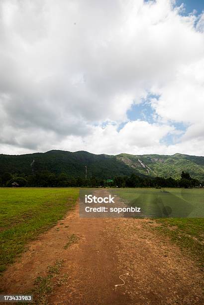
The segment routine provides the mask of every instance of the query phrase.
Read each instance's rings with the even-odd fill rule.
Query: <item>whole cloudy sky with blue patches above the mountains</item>
[[[0,153],[204,155],[203,0],[1,0]]]

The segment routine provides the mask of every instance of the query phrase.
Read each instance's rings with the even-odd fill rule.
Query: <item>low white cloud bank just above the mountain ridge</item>
[[[44,132],[40,130],[30,130],[29,138],[27,132],[21,130],[17,135],[7,133],[10,141],[16,139],[15,146],[17,149],[12,150],[13,153],[18,152],[20,147],[29,147],[34,151],[40,149],[45,151],[49,145],[50,149],[58,149],[70,151],[86,150],[95,153],[117,154],[121,151],[137,154],[140,152],[148,152],[150,149],[160,150],[159,141],[169,133],[174,133],[174,128],[168,125],[149,124],[145,121],[132,121],[124,125],[118,131],[118,125],[107,124],[105,127],[90,127],[90,134],[86,136],[67,136],[66,138],[57,138],[53,132]],[[10,137],[10,138],[9,138]],[[5,139],[4,139],[5,140]],[[5,144],[9,142],[3,141]],[[40,143],[40,145],[39,145]],[[8,148],[8,147],[7,147]],[[30,152],[27,150],[26,152]]]

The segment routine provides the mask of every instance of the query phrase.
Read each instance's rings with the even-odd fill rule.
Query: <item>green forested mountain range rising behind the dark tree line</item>
[[[34,160],[34,162],[33,162]],[[32,165],[31,165],[31,162]],[[204,156],[176,153],[174,155],[143,154],[118,155],[94,154],[90,152],[49,151],[21,155],[0,154],[0,175],[4,172],[29,175],[40,170],[71,177],[113,178],[116,175],[163,176],[179,178],[182,170],[194,178],[204,180]]]

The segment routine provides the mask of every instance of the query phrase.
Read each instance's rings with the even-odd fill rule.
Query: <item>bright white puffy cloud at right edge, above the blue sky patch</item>
[[[158,101],[152,101],[163,119],[195,124],[204,114],[204,58],[182,66],[175,79],[162,86]]]

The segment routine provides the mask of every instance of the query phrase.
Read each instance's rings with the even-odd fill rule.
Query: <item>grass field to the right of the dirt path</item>
[[[111,192],[128,205],[146,206],[146,213],[159,224],[152,229],[204,264],[204,189],[120,188]],[[171,208],[169,215],[162,210],[165,206]]]

